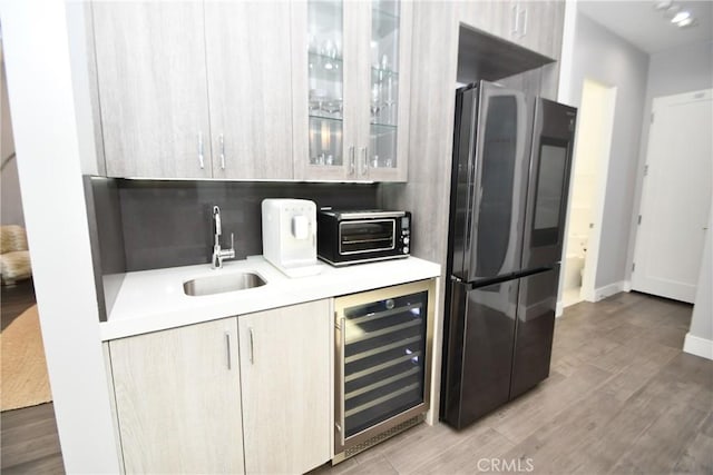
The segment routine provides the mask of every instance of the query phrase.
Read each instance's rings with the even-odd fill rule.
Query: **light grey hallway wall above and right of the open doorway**
[[[634,184],[643,122],[648,56],[589,18],[577,13],[569,68],[563,68],[559,100],[582,103],[585,78],[617,88],[596,288],[623,286],[634,212]]]

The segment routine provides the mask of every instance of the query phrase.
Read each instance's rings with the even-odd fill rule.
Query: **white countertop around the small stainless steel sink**
[[[201,264],[128,273],[114,307],[107,309],[107,321],[99,324],[101,339],[123,338],[440,276],[438,264],[416,257],[341,268],[321,265],[321,274],[299,278],[285,276],[262,256],[226,260],[223,269],[216,270],[211,269],[209,264]],[[258,274],[267,284],[199,297],[188,296],[183,290],[187,280],[246,271]]]

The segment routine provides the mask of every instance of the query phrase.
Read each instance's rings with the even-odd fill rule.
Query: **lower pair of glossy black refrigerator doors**
[[[559,266],[485,287],[453,281],[441,416],[462,428],[549,375]]]

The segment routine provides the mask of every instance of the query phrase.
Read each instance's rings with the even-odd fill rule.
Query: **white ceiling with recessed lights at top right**
[[[657,1],[578,1],[582,13],[648,53],[713,40],[713,1],[675,1],[696,18],[678,28],[654,6]]]

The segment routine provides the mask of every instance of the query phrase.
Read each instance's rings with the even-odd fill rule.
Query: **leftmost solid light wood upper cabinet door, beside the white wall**
[[[91,9],[107,175],[211,177],[203,3]]]

